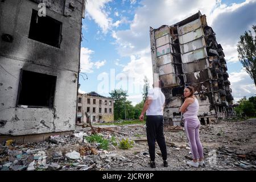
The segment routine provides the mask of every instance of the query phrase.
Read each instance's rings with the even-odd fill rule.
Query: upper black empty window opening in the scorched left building
[[[32,10],[29,39],[60,48],[62,23],[50,16],[38,16]]]

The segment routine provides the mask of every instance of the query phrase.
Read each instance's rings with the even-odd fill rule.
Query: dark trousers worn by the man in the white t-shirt
[[[163,160],[167,159],[166,142],[163,134],[163,122],[163,115],[147,115],[147,144],[151,161],[155,161],[155,140],[158,142]]]

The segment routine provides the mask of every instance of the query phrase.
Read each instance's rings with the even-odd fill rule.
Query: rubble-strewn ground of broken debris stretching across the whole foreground
[[[156,144],[154,170],[255,170],[256,119],[243,122],[221,122],[202,125],[200,139],[204,148],[205,168],[193,168],[186,162],[192,159],[185,131],[182,127],[164,127],[169,167],[163,167],[162,156]],[[105,139],[113,136],[118,143],[123,138],[133,140],[132,148],[122,150],[109,143],[108,150],[100,143],[89,143],[90,128],[77,130],[47,141],[16,144],[7,140],[0,144],[1,171],[86,171],[86,170],[152,170],[148,166],[146,129],[144,125],[119,126],[119,130],[101,130]]]

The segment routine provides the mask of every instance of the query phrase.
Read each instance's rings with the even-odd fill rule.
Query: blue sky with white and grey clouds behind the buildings
[[[256,24],[256,1],[88,0],[82,20],[80,92],[104,96],[114,88],[128,89],[129,100],[142,100],[143,78],[152,84],[149,27],[174,24],[197,13],[224,48],[229,80],[236,100],[256,93],[253,80],[237,59],[239,36]],[[121,80],[122,79],[122,80]]]

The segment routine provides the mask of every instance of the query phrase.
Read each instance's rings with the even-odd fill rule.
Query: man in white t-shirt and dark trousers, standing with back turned
[[[146,112],[146,131],[147,131],[147,143],[148,152],[150,153],[150,166],[155,168],[155,140],[158,142],[158,146],[162,153],[163,165],[168,166],[167,163],[167,150],[166,142],[163,134],[163,110],[166,97],[163,92],[163,82],[158,80],[154,83],[154,88],[148,91],[147,100],[144,103],[143,110],[139,119],[143,121],[144,114]]]

